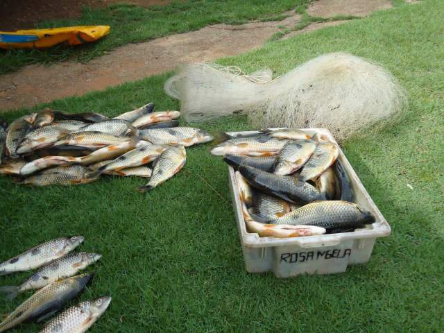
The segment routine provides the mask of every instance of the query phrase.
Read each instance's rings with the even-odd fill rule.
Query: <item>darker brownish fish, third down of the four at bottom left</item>
[[[5,332],[20,323],[44,321],[60,310],[66,302],[76,298],[92,278],[92,274],[76,275],[53,282],[36,291],[0,323],[0,332]]]

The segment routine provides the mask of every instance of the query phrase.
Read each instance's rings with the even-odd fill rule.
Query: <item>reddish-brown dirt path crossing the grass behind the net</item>
[[[332,5],[335,15],[344,13],[365,16],[373,10],[388,8],[390,2],[320,0],[316,1],[309,11],[312,12],[311,15],[327,17],[330,12],[325,10],[325,3],[336,3]],[[356,12],[350,8],[357,8]],[[59,62],[49,67],[24,67],[21,71],[1,76],[0,111],[102,90],[169,71],[182,62],[210,61],[255,49],[262,46],[274,33],[281,31],[280,27],[294,26],[300,17],[294,15],[293,11],[289,12],[290,14],[291,17],[280,22],[254,22],[239,26],[216,24],[199,31],[129,44],[85,65],[78,62]],[[340,23],[342,22],[311,24],[296,33]]]

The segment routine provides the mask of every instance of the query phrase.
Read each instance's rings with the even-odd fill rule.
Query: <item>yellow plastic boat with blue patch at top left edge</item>
[[[110,26],[66,26],[64,28],[0,31],[2,49],[44,49],[62,42],[69,45],[95,42],[108,35]]]

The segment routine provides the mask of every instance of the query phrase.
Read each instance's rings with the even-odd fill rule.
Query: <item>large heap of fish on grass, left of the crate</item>
[[[153,110],[149,103],[109,119],[46,108],[9,126],[0,121],[0,173],[37,186],[139,176],[149,181],[138,190],[152,189],[182,169],[185,147],[213,139],[199,128],[178,127],[178,111]]]

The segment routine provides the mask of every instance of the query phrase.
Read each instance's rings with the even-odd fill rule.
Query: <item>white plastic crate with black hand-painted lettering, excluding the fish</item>
[[[304,129],[310,134],[319,133],[324,139],[335,142],[331,133],[325,128]],[[228,133],[236,135],[249,132]],[[289,278],[299,274],[333,274],[342,273],[348,265],[368,262],[373,246],[378,237],[387,237],[391,228],[384,216],[377,209],[366,189],[357,177],[352,166],[339,148],[339,160],[350,177],[355,191],[355,203],[365,207],[375,216],[375,223],[367,228],[340,234],[323,234],[321,236],[273,238],[259,237],[246,229],[242,214],[241,200],[237,187],[234,169],[230,171],[230,189],[237,219],[239,237],[246,270],[250,273],[273,271],[278,278]]]

